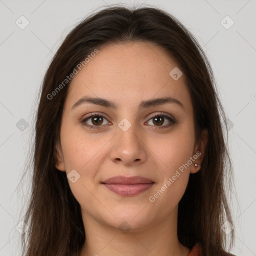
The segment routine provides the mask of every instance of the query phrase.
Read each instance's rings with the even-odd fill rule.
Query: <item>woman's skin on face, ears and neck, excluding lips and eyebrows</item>
[[[74,183],[68,179],[81,205],[86,234],[80,256],[189,253],[177,238],[177,206],[189,173],[200,169],[194,162],[200,164],[203,159],[207,132],[203,130],[202,137],[195,140],[185,75],[174,80],[169,75],[174,67],[178,67],[175,61],[153,43],[113,44],[101,47],[70,82],[55,166],[67,174],[75,169],[80,175]],[[71,109],[82,96],[102,97],[118,107],[83,103]],[[138,108],[142,100],[165,96],[179,100],[184,109],[174,103]],[[95,112],[104,117],[101,126],[85,126],[82,120]],[[153,122],[154,114],[174,117],[176,123],[164,118],[159,128]],[[118,126],[123,118],[131,124],[126,131]],[[91,118],[86,123],[97,125]],[[149,196],[196,151],[201,155],[150,202]],[[155,183],[137,195],[122,196],[100,183],[116,175],[140,175]],[[118,228],[123,221],[130,228],[127,232]]]

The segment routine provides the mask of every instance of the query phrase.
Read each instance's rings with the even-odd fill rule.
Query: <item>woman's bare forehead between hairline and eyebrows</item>
[[[173,68],[179,67],[170,54],[151,42],[105,45],[71,80],[66,104],[85,95],[108,98],[121,105],[123,100],[135,103],[167,94],[189,104],[185,76],[174,80],[169,74]]]

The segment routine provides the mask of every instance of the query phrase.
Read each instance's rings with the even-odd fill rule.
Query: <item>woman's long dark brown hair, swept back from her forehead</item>
[[[225,191],[232,181],[227,122],[205,53],[180,21],[164,10],[113,5],[90,13],[68,33],[44,76],[36,114],[31,196],[23,218],[29,229],[22,235],[22,255],[79,255],[85,240],[80,205],[66,173],[55,168],[54,160],[69,82],[53,98],[49,94],[95,48],[128,41],[155,43],[170,53],[186,77],[196,137],[202,129],[208,130],[201,168],[190,174],[178,204],[179,241],[189,248],[200,243],[207,256],[225,255],[227,245],[230,250],[233,244],[233,231],[226,235],[221,230],[225,221],[232,225]]]

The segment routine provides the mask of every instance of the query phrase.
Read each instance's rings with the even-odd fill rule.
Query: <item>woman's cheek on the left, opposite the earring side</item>
[[[64,156],[67,180],[73,196],[80,205],[95,203],[94,177],[106,157],[104,146],[109,138],[85,135],[81,128],[63,126],[61,147]],[[74,179],[69,178],[72,170]],[[71,173],[71,172],[70,172]],[[75,180],[75,182],[72,182]]]

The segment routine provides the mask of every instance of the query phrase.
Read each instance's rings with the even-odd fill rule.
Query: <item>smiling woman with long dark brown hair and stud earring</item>
[[[177,19],[91,14],[43,80],[23,255],[230,255],[221,118],[207,58]]]

